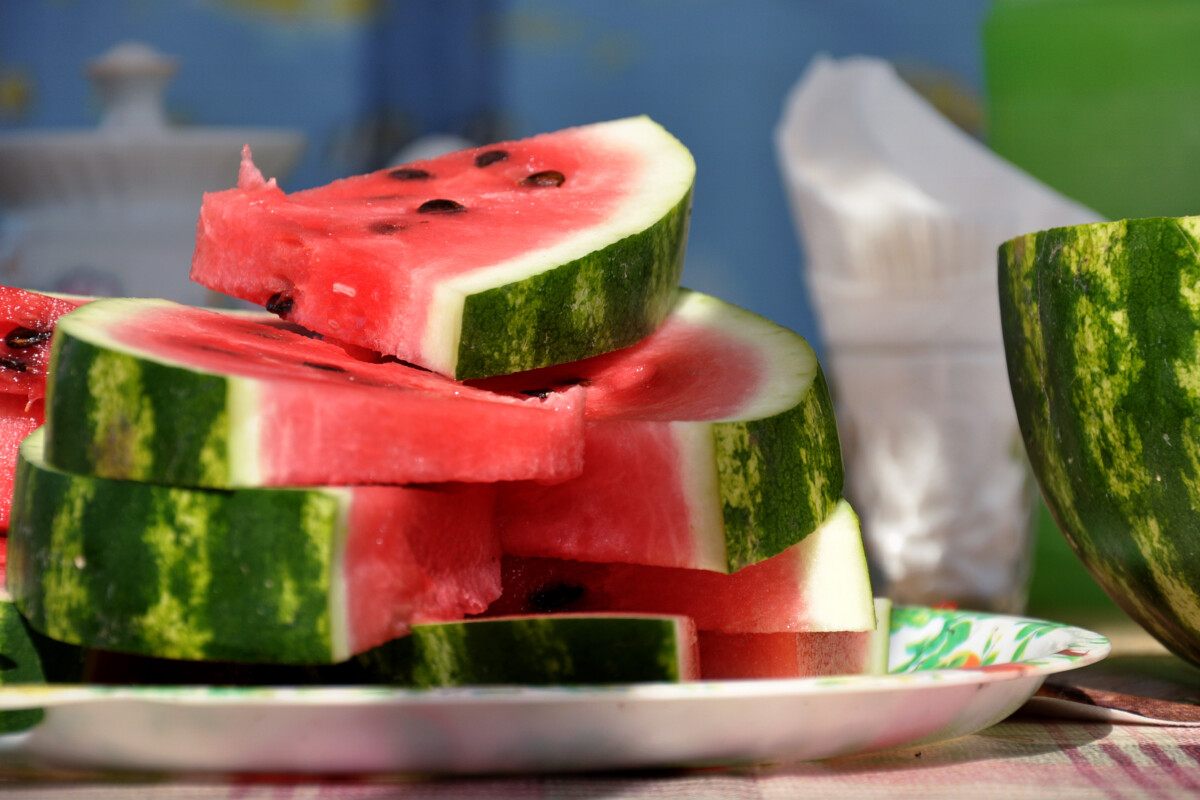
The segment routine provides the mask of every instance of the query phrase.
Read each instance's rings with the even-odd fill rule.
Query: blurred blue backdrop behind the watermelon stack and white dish
[[[474,142],[649,114],[698,166],[685,283],[820,337],[772,131],[817,54],[875,55],[980,125],[986,0],[4,0],[0,132],[94,125],[82,73],[124,40],[180,59],[168,112],[298,127],[284,180],[378,167],[425,133]]]

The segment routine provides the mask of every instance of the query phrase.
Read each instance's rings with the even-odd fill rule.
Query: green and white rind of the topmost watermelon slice
[[[583,126],[642,172],[602,223],[433,289],[421,366],[458,380],[566,363],[634,344],[683,273],[696,162],[648,116]],[[553,137],[554,134],[545,134]]]

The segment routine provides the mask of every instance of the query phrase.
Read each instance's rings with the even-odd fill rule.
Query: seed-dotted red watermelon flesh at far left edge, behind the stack
[[[30,402],[46,397],[50,335],[59,317],[88,302],[85,297],[46,295],[0,285],[0,392]]]

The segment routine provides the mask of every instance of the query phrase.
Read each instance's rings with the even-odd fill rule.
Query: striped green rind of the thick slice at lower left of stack
[[[8,533],[8,589],[35,630],[175,658],[349,657],[332,577],[347,491],[205,492],[70,475],[46,465],[43,431],[22,445]]]

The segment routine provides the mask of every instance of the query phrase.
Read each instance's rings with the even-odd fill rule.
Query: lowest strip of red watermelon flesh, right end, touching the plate
[[[872,631],[701,631],[700,676],[733,680],[860,675],[870,666],[872,634]]]

